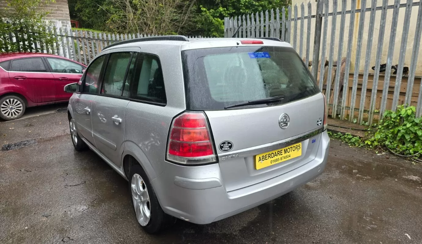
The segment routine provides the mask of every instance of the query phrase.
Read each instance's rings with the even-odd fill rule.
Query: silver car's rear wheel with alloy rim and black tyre
[[[162,211],[154,189],[139,164],[130,169],[129,190],[136,219],[146,232],[156,234],[174,223],[174,218]]]

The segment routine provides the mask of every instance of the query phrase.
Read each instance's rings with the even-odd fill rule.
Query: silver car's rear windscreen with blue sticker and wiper
[[[219,110],[235,103],[283,95],[275,106],[319,92],[292,48],[242,46],[182,51],[187,109]]]

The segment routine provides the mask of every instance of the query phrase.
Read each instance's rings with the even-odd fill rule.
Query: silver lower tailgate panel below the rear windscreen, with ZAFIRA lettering
[[[318,93],[280,106],[206,111],[206,114],[216,143],[223,182],[227,191],[233,191],[294,170],[315,158],[321,136],[318,132],[322,130],[319,121],[324,116],[324,98]],[[279,125],[281,114],[289,116],[289,125],[285,129]],[[265,156],[285,147],[291,150],[288,147],[297,143],[301,143],[300,152],[292,153],[292,158],[262,168],[255,165],[256,155]],[[282,153],[287,153],[286,150]],[[267,156],[267,160],[272,158],[280,157],[274,153]]]

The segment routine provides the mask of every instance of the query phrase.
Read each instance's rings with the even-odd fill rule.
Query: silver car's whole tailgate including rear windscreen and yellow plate
[[[303,136],[322,130],[324,96],[287,43],[229,42],[183,50],[182,61],[186,108],[206,113],[224,185],[233,191],[315,158],[320,135]]]

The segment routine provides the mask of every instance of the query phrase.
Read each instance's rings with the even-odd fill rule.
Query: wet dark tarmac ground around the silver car
[[[13,129],[11,129],[13,128]],[[422,166],[332,141],[317,179],[209,225],[178,220],[158,236],[135,220],[127,181],[76,152],[66,114],[0,122],[1,244],[422,244]]]

